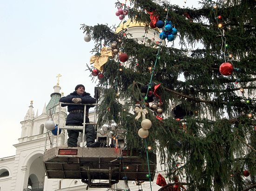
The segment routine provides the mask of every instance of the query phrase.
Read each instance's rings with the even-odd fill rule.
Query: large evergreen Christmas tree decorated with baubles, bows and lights
[[[126,129],[131,151],[151,146],[170,182],[181,177],[187,190],[255,188],[256,1],[115,6],[121,31],[81,26],[95,42],[88,69],[103,91],[98,122]],[[130,22],[145,26],[142,40],[130,38]],[[162,40],[147,38],[148,30]]]

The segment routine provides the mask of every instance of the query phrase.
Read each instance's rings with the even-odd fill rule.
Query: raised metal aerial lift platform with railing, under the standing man
[[[81,128],[84,134],[84,127],[61,128]],[[88,187],[109,188],[119,180],[152,181],[155,176],[155,153],[148,153],[147,161],[146,152],[131,154],[120,147],[58,146],[58,135],[56,146],[46,149],[43,156],[47,178],[81,179]]]

